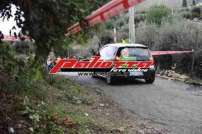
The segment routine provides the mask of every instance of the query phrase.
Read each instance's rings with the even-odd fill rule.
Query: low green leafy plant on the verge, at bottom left
[[[48,105],[41,101],[33,105],[28,97],[25,97],[22,114],[31,122],[29,130],[37,134],[63,134],[64,128],[53,120],[53,113]]]

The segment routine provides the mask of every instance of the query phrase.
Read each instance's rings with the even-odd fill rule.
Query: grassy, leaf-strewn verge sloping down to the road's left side
[[[128,118],[106,96],[63,77],[35,82],[14,96],[4,99],[12,98],[12,106],[4,102],[12,119],[3,128],[5,133],[11,126],[20,134],[111,134],[129,126]],[[101,107],[101,103],[106,105]],[[5,111],[0,108],[3,117],[1,112]],[[5,122],[6,118],[0,120],[0,124]]]

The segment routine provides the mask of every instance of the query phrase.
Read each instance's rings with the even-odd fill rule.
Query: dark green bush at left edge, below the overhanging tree
[[[9,43],[0,45],[0,86],[2,89],[15,92],[30,90],[34,82],[43,79],[40,69],[41,65],[35,62],[32,53],[16,52],[15,47]]]

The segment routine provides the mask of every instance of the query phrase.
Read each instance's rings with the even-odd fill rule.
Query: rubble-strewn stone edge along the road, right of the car
[[[172,77],[168,77],[168,76],[161,76],[160,74],[156,74],[156,76],[159,78],[167,79],[167,80],[175,80],[175,81],[184,82],[184,83],[190,84],[190,85],[202,86],[202,82],[199,82],[197,80],[191,80],[191,79],[184,80],[184,79],[172,78]]]

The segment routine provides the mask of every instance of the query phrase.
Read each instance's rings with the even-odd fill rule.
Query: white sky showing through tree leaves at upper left
[[[14,5],[12,5],[12,13],[14,14],[15,11],[16,11],[16,7],[15,7]],[[0,31],[2,31],[2,33],[3,33],[4,35],[9,35],[9,30],[10,30],[13,26],[16,27],[16,30],[13,30],[12,33],[13,33],[13,32],[18,33],[18,32],[20,31],[20,29],[17,28],[17,25],[16,25],[16,23],[15,23],[15,21],[14,21],[14,17],[11,17],[9,20],[5,19],[4,21],[3,21],[2,18],[0,18]]]

